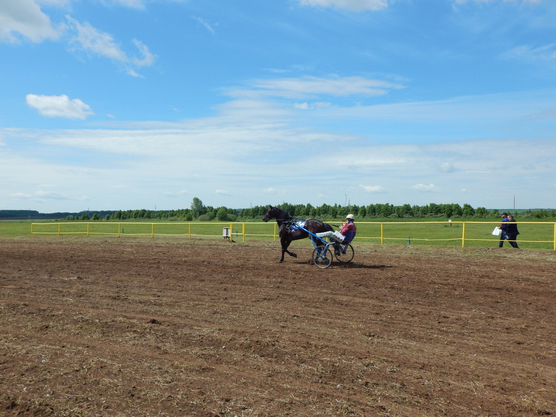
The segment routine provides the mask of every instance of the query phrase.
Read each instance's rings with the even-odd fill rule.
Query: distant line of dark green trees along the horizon
[[[411,219],[411,218],[438,218],[450,219],[459,217],[500,217],[499,210],[488,210],[484,207],[474,209],[469,204],[460,206],[459,204],[436,204],[430,203],[426,206],[404,204],[394,206],[392,204],[369,204],[366,206],[348,205],[341,206],[335,204],[330,206],[323,204],[314,207],[311,204],[290,204],[282,203],[277,205],[290,216],[299,219],[317,217],[321,219],[337,219],[352,213],[358,219],[390,218],[390,219]],[[268,210],[268,206],[255,206],[249,209],[230,209],[228,207],[212,207],[203,205],[197,197],[193,198],[190,209],[180,210],[88,210],[77,213],[56,212],[39,213],[36,210],[0,210],[0,219],[24,220],[24,219],[58,219],[68,221],[82,220],[131,220],[131,219],[159,219],[159,220],[183,220],[183,221],[236,221],[237,219],[260,219]],[[507,210],[508,212],[512,210]],[[535,210],[516,210],[517,217],[522,219],[543,219],[556,217],[556,210],[535,209]]]

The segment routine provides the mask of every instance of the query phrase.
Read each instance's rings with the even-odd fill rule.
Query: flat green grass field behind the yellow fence
[[[358,233],[356,243],[381,243],[381,225],[383,223],[384,244],[411,245],[440,245],[461,246],[463,225],[456,223],[463,219],[453,220],[452,226],[446,223],[448,219],[364,219],[357,221]],[[400,224],[400,220],[408,220]],[[467,221],[467,219],[465,219]],[[552,219],[546,219],[552,220]],[[331,224],[339,225],[342,220],[329,220]],[[473,219],[474,222],[486,224],[465,224],[465,246],[495,247],[498,237],[490,234],[499,221],[493,219]],[[210,222],[162,222],[162,221],[90,221],[88,222],[56,222],[56,221],[0,221],[0,236],[118,236],[121,237],[155,237],[173,236],[188,239],[217,239],[222,236],[222,227],[229,227],[229,223]],[[154,224],[154,227],[153,225]],[[88,226],[87,226],[88,225]],[[274,241],[276,222],[263,223],[256,220],[245,221],[245,239]],[[232,224],[232,238],[243,240],[243,221]],[[518,227],[519,246],[523,249],[554,249],[554,222],[532,221],[522,222]],[[277,227],[276,227],[277,232]],[[544,241],[544,242],[527,242]],[[299,242],[304,244],[304,242]],[[307,241],[308,243],[308,241]],[[505,246],[509,246],[508,243]]]

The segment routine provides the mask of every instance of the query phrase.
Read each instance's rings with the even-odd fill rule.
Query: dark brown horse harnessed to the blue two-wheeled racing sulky
[[[305,239],[309,237],[309,234],[305,230],[295,228],[294,217],[288,215],[284,210],[269,205],[269,211],[262,217],[262,221],[267,222],[271,219],[276,219],[276,223],[280,226],[278,235],[280,236],[280,244],[282,245],[282,257],[278,262],[284,262],[284,254],[286,252],[288,255],[296,258],[297,255],[287,250],[287,247],[290,246],[292,240]],[[304,227],[315,234],[334,230],[329,224],[317,219],[305,220]]]

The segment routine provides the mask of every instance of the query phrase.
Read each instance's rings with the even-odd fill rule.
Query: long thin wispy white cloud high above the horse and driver
[[[236,97],[285,97],[285,98],[304,98],[318,95],[330,95],[336,97],[347,96],[382,96],[390,90],[403,88],[399,84],[390,83],[382,80],[371,80],[369,78],[353,76],[329,78],[305,76],[299,78],[275,78],[274,80],[255,80],[251,83],[251,88],[235,88],[226,90],[231,96]],[[329,104],[319,102],[315,107],[326,107]],[[301,103],[302,107],[304,103]],[[309,108],[307,104],[306,108]]]

